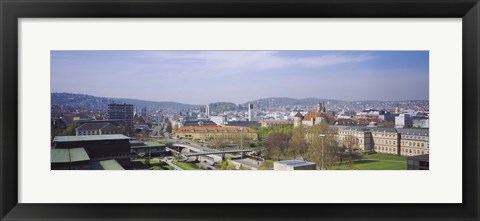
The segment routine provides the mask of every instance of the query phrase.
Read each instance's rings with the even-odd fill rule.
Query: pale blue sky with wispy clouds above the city
[[[188,104],[428,100],[428,51],[51,51],[51,91]]]

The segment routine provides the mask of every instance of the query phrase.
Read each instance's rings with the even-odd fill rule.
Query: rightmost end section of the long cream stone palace
[[[429,153],[429,130],[397,128],[401,134],[401,155],[416,156]]]

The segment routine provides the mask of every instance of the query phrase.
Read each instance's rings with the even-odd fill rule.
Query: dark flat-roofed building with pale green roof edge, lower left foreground
[[[91,160],[116,159],[122,164],[130,162],[129,137],[122,134],[56,136],[54,149],[83,147]]]

